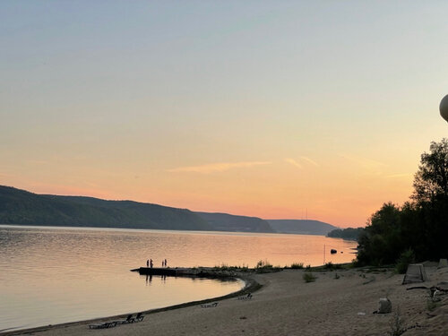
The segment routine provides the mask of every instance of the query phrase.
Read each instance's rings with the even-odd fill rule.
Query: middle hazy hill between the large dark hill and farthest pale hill
[[[195,212],[218,231],[275,232],[266,220],[228,213]]]

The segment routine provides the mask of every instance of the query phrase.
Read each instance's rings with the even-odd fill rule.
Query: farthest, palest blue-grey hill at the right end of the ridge
[[[337,227],[319,220],[267,220],[279,233],[295,233],[298,235],[326,236]]]

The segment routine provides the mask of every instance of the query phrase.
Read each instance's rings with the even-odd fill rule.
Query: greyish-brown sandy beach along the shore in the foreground
[[[401,285],[392,270],[314,271],[306,283],[303,270],[254,275],[263,285],[250,300],[237,297],[215,307],[200,304],[155,314],[141,323],[90,330],[90,322],[56,325],[31,334],[50,335],[387,335],[400,310],[404,335],[448,335],[448,295],[428,309],[428,289],[448,280],[448,268],[426,267],[429,280]],[[339,276],[336,276],[336,273]],[[373,314],[380,297],[392,301],[391,314]],[[106,319],[105,321],[111,321]],[[24,334],[24,332],[22,332]]]

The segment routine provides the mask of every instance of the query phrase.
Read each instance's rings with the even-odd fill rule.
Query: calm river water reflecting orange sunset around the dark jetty
[[[154,266],[346,263],[356,243],[321,236],[0,226],[0,332],[218,297],[239,280],[193,280],[129,271]],[[330,254],[331,248],[338,254]],[[343,252],[343,253],[340,253]]]

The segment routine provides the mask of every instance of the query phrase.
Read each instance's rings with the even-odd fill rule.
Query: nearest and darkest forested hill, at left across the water
[[[0,185],[0,223],[22,225],[212,230],[193,211],[132,201],[32,194]]]

